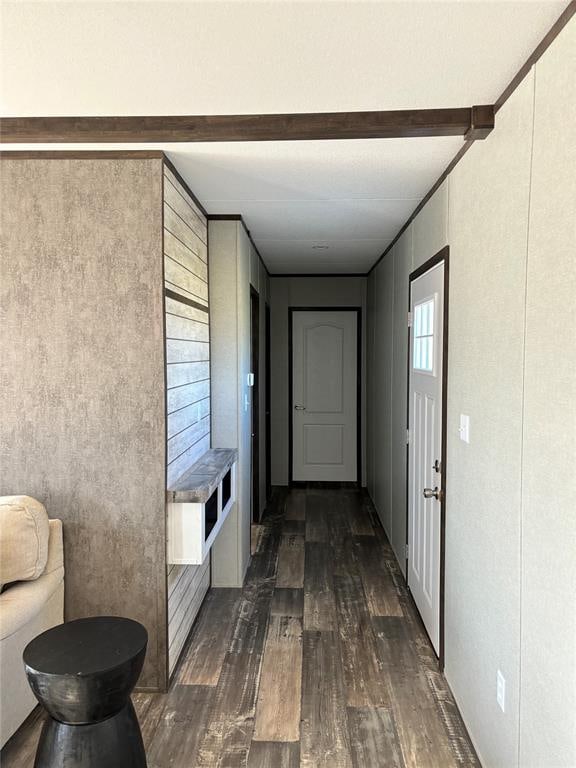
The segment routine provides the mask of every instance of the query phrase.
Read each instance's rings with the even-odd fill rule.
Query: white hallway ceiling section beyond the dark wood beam
[[[242,213],[271,272],[364,272],[461,143],[251,142],[169,155],[210,213]]]

